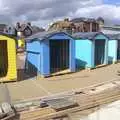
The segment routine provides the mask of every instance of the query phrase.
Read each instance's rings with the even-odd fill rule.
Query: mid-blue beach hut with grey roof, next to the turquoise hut
[[[40,32],[26,39],[27,71],[43,77],[75,72],[75,41],[65,32]]]

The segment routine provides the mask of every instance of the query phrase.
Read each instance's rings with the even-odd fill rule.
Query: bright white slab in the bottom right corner
[[[120,100],[99,108],[71,113],[70,120],[119,120]]]

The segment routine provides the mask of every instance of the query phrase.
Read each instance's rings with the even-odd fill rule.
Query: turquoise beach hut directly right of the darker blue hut
[[[108,37],[101,32],[75,33],[76,67],[95,68],[108,64]]]

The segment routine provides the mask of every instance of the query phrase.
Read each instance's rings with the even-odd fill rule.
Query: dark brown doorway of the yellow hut
[[[8,71],[7,41],[0,40],[0,77],[5,77]]]

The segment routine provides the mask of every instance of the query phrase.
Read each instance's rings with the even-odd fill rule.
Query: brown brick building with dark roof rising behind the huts
[[[72,20],[64,19],[53,23],[48,31],[66,31],[69,33],[76,32],[98,32],[104,25],[104,20],[99,17],[98,19],[92,18],[75,18]]]

